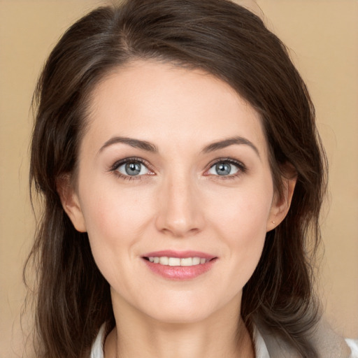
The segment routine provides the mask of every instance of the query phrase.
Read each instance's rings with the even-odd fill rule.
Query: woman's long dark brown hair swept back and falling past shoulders
[[[244,287],[241,315],[251,332],[253,322],[260,322],[302,357],[317,357],[310,342],[318,317],[310,254],[320,239],[325,159],[313,104],[285,45],[259,17],[227,0],[129,0],[97,8],[52,50],[36,87],[31,143],[31,186],[44,206],[29,257],[38,275],[37,357],[83,357],[101,324],[115,324],[109,285],[87,234],[76,231],[64,213],[56,182],[76,175],[95,85],[133,59],[203,69],[229,83],[261,115],[278,193],[282,169],[294,167],[291,208],[266,235]]]

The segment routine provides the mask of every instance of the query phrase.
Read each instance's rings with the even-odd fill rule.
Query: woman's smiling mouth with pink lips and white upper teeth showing
[[[166,250],[150,252],[142,259],[157,275],[169,280],[190,280],[209,271],[218,257],[197,251]]]

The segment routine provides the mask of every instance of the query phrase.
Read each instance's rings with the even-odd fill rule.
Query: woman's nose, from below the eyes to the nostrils
[[[197,184],[172,176],[159,189],[156,227],[164,234],[180,238],[200,232],[204,225],[203,207]]]

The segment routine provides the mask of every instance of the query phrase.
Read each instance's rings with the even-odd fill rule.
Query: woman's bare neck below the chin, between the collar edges
[[[205,320],[190,323],[159,322],[134,308],[115,309],[117,325],[106,339],[105,358],[253,358],[239,308],[234,299]]]

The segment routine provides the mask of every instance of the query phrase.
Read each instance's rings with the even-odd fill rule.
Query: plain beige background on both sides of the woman
[[[249,0],[250,1],[250,0]],[[22,263],[29,206],[31,94],[66,27],[103,1],[0,0],[0,357],[22,352]],[[317,109],[330,163],[320,290],[337,331],[358,338],[358,1],[258,0],[292,50]]]

